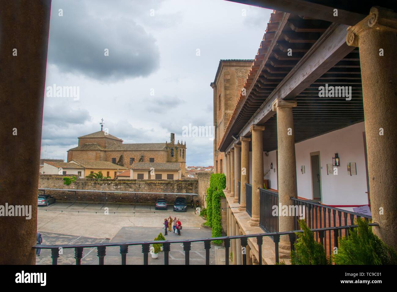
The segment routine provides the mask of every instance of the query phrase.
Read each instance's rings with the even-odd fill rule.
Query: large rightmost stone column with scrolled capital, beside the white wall
[[[397,250],[397,13],[372,7],[348,31],[347,44],[360,49],[373,231]]]

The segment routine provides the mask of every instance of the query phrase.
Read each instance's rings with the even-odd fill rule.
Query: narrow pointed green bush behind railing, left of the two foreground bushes
[[[324,246],[314,240],[314,232],[307,227],[304,220],[299,220],[303,232],[297,233],[295,250],[291,252],[293,265],[331,265],[332,260],[327,257]]]

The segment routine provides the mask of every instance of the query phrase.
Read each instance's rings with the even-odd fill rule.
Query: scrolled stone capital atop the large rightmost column
[[[379,6],[372,7],[367,17],[356,25],[347,28],[346,43],[349,46],[358,47],[360,34],[367,29],[394,31],[397,33],[397,13]]]

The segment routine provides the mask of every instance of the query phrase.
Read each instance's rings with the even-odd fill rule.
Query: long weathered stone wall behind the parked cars
[[[62,188],[65,191],[49,191],[58,201],[79,201],[79,202],[111,202],[126,204],[153,204],[157,198],[164,198],[162,194],[126,194],[126,193],[105,193],[106,191],[126,192],[160,192],[160,193],[194,193],[198,194],[198,181],[169,181],[169,180],[117,180],[107,179],[95,181],[94,179],[77,179],[69,186],[64,184],[63,177],[56,175],[40,175],[39,188]],[[99,190],[100,192],[73,192],[73,189]],[[69,190],[69,191],[67,191]],[[42,194],[40,191],[39,194]],[[180,195],[186,198],[190,204],[192,196]],[[177,195],[166,195],[168,204],[173,204]],[[196,198],[195,198],[196,200]]]

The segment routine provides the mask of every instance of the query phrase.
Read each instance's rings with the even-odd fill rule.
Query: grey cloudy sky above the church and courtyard
[[[254,58],[270,13],[224,0],[52,0],[41,158],[66,159],[103,118],[124,143],[172,132],[187,165],[214,165],[213,141],[183,126],[213,125],[219,60]],[[56,97],[54,84],[79,95]]]

